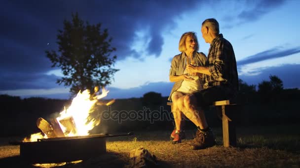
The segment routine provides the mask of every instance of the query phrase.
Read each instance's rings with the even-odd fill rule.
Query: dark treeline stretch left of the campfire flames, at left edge
[[[27,135],[39,132],[38,117],[47,118],[63,110],[68,100],[39,97],[21,99],[0,95],[0,136]]]

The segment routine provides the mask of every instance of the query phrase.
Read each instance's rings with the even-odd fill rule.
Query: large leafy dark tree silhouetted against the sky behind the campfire
[[[111,84],[116,56],[111,53],[112,38],[108,29],[101,31],[101,24],[90,25],[79,19],[78,13],[72,14],[72,21],[64,21],[64,29],[58,30],[58,53],[46,51],[52,67],[61,68],[64,77],[56,83],[71,86],[71,93],[89,89],[94,92],[95,86]]]

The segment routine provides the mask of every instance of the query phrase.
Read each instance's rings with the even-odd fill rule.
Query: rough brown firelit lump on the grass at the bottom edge
[[[155,155],[151,154],[144,147],[130,151],[130,168],[148,168],[157,166]]]

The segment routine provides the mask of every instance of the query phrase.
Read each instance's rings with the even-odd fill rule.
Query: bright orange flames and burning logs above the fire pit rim
[[[30,138],[23,141],[38,141],[47,138],[87,136],[89,131],[100,124],[100,116],[93,116],[95,105],[111,105],[114,100],[109,102],[100,102],[106,97],[108,90],[102,88],[99,94],[98,87],[95,87],[94,94],[91,96],[89,90],[78,92],[69,108],[65,108],[56,118],[49,119],[49,122],[43,118],[38,118],[37,126],[41,133],[32,134]]]

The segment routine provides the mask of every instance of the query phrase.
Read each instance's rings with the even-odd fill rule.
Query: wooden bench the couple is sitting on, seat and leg
[[[172,109],[172,102],[167,102],[167,105],[171,106]],[[222,119],[224,147],[236,146],[236,132],[234,121],[236,104],[230,104],[229,100],[222,100],[213,102],[212,106],[217,108],[217,114]]]

